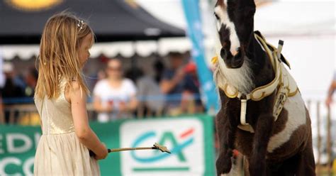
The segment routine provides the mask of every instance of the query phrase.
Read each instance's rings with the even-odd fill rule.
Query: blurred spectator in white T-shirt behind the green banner
[[[94,87],[94,109],[98,121],[107,122],[133,117],[137,108],[137,89],[130,79],[123,77],[121,60],[111,59],[106,68],[107,78]]]

